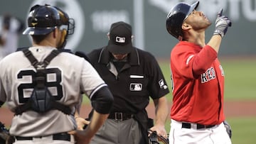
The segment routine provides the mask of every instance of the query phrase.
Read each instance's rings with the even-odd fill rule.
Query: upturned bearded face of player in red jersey
[[[188,18],[186,18],[185,22],[191,25],[195,31],[206,29],[211,24],[202,11],[196,10],[192,11]]]

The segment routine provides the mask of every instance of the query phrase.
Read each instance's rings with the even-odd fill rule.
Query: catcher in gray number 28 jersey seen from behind
[[[63,52],[73,24],[58,7],[33,6],[23,32],[33,45],[0,61],[0,106],[6,102],[15,113],[10,128],[15,144],[86,144],[110,113],[107,84],[84,58]],[[74,131],[81,92],[95,111],[84,131]]]

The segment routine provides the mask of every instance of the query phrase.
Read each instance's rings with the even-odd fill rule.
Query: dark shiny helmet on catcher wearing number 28
[[[73,19],[64,11],[48,4],[33,6],[27,22],[28,28],[23,31],[23,35],[46,35],[57,27],[65,28],[68,34],[73,34],[74,30]]]

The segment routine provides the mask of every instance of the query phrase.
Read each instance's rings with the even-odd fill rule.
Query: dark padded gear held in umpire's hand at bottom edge
[[[156,134],[156,131],[149,130],[149,144],[169,144],[169,139]]]

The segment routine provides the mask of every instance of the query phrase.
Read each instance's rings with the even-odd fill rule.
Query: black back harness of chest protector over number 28
[[[70,108],[56,102],[55,98],[50,94],[48,87],[46,87],[46,66],[50,63],[50,60],[53,60],[53,58],[60,53],[60,51],[53,50],[43,62],[38,62],[30,50],[24,49],[22,51],[33,67],[36,68],[36,85],[26,104],[17,107],[16,114],[21,114],[27,110],[43,113],[50,111],[51,109],[58,109],[59,111],[63,111],[63,113],[70,114]]]

